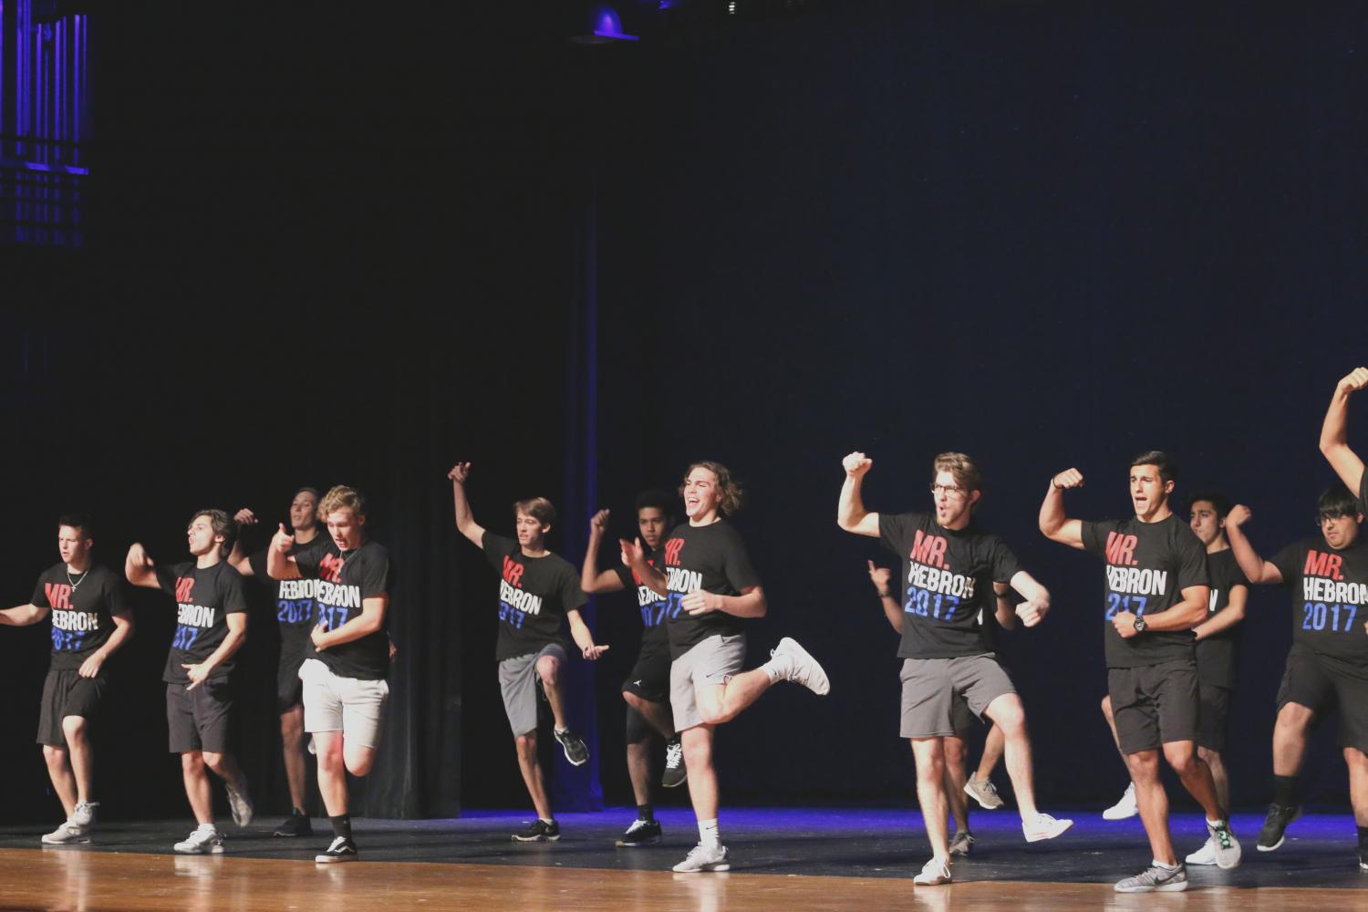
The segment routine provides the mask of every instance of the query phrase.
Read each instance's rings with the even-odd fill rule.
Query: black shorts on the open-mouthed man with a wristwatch
[[[1122,753],[1157,751],[1170,741],[1196,741],[1201,699],[1197,662],[1171,659],[1138,669],[1107,669],[1116,740]]]

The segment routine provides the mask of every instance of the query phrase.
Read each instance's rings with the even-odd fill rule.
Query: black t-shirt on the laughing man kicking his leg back
[[[725,611],[692,617],[680,607],[689,592],[702,589],[714,595],[740,595],[741,589],[759,585],[746,543],[726,520],[710,525],[679,525],[661,548],[665,558],[669,604],[665,608],[670,639],[670,658],[680,658],[710,636],[733,636],[741,632],[741,618]]]

